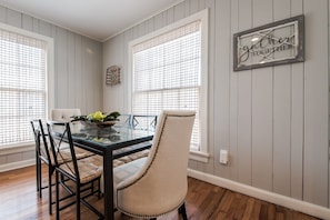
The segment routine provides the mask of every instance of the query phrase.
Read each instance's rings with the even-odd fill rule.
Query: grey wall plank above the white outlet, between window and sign
[[[209,81],[213,82],[210,83],[210,92],[213,89],[213,99],[212,102],[214,104],[213,109],[213,137],[214,137],[214,173],[217,176],[222,176],[224,178],[230,178],[231,173],[230,169],[227,169],[226,166],[220,164],[219,158],[219,147],[224,150],[229,150],[230,142],[229,142],[229,131],[230,131],[230,114],[229,114],[229,94],[230,94],[230,74],[231,66],[230,66],[230,42],[231,34],[230,34],[230,1],[216,1],[213,7],[216,10],[216,22],[214,27],[214,38],[213,41],[210,41],[209,44],[214,44],[214,51],[209,56],[210,59],[213,59],[213,68],[211,68],[212,72],[209,71]],[[223,22],[217,22],[223,21]],[[212,22],[210,22],[212,23]],[[210,28],[210,31],[212,28]],[[213,47],[212,47],[213,48]],[[228,52],[223,52],[228,51]],[[219,71],[221,69],[221,71]],[[212,77],[213,76],[213,77]],[[213,78],[213,79],[212,79]],[[219,103],[224,103],[220,104]],[[211,106],[210,106],[211,107]],[[210,109],[211,110],[211,109]],[[217,124],[221,124],[220,127]],[[233,151],[234,152],[234,151]],[[232,161],[234,162],[234,161]],[[234,163],[232,163],[234,166]],[[232,169],[233,170],[233,169]]]

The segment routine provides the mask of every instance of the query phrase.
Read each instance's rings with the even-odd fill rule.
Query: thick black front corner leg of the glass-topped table
[[[112,150],[106,149],[103,154],[103,180],[104,180],[104,219],[113,220],[113,161]]]

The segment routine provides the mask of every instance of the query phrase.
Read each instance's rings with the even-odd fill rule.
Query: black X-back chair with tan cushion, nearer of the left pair
[[[102,167],[93,163],[94,158],[100,156],[91,156],[83,159],[77,159],[76,148],[71,136],[70,122],[54,122],[48,121],[47,128],[49,133],[49,141],[51,144],[52,154],[56,161],[56,213],[57,219],[60,217],[60,210],[76,203],[76,217],[80,219],[80,203],[83,203],[87,208],[93,211],[99,218],[103,218],[103,214],[92,207],[86,198],[98,193],[100,198],[100,178],[103,172]],[[66,148],[61,146],[69,146],[70,153],[62,153]],[[98,160],[98,159],[96,159]],[[76,194],[76,201],[67,203],[60,207],[59,196],[59,176],[63,176],[73,182],[74,189],[69,189],[64,184],[64,189]],[[97,188],[94,186],[97,183]],[[82,192],[88,193],[82,194]]]

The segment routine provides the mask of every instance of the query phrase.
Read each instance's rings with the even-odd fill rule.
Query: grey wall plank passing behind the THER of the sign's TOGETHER
[[[289,18],[291,2],[273,2],[273,19]],[[291,66],[273,68],[273,192],[290,196]]]

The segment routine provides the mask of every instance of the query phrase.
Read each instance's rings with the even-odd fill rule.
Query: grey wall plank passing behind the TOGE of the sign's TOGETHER
[[[272,21],[272,1],[253,0],[252,24]],[[252,71],[252,186],[272,189],[272,68]]]

